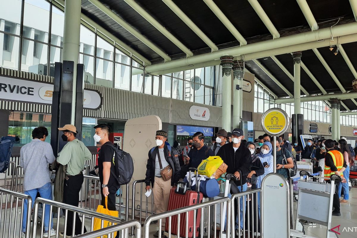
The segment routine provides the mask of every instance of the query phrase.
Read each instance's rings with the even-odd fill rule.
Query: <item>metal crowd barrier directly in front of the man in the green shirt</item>
[[[101,214],[101,213],[97,213],[94,211],[90,211],[87,209],[83,209],[83,208],[79,208],[79,207],[75,207],[75,206],[71,206],[68,204],[64,204],[64,203],[60,203],[60,202],[55,202],[52,200],[48,200],[48,199],[44,199],[44,198],[36,198],[35,200],[35,205],[34,205],[34,216],[33,216],[33,230],[32,230],[32,237],[43,237],[43,228],[44,228],[44,213],[45,213],[45,209],[42,209],[42,214],[39,214],[39,204],[42,204],[42,207],[45,207],[46,205],[50,206],[50,214],[52,214],[52,212],[57,213],[57,218],[56,218],[56,222],[53,222],[53,229],[56,230],[56,238],[59,237],[59,233],[60,233],[60,227],[63,229],[61,229],[61,231],[64,231],[64,234],[66,234],[66,224],[67,224],[67,216],[68,216],[68,212],[74,212],[73,214],[73,223],[72,223],[72,237],[75,235],[75,223],[76,223],[76,214],[78,214],[82,219],[82,226],[81,226],[81,234],[84,233],[84,227],[90,228],[87,229],[88,232],[92,232],[93,231],[93,226],[94,226],[94,218],[99,218],[102,220],[101,222],[101,229],[104,228],[104,221],[109,221],[112,226],[114,226],[115,224],[120,224],[125,222],[124,219],[121,219],[119,217],[112,217],[112,216],[108,216],[105,214]],[[60,214],[60,209],[62,209],[63,213],[64,213],[64,217],[60,217],[58,216],[58,214]],[[41,236],[37,235],[37,219],[38,217],[41,217]],[[50,216],[49,219],[49,223],[51,224],[51,221],[55,220],[55,217],[52,218],[52,216]],[[56,223],[56,224],[55,224]],[[51,227],[51,226],[49,226]],[[112,236],[113,237],[113,236]],[[26,237],[27,238],[27,237]]]

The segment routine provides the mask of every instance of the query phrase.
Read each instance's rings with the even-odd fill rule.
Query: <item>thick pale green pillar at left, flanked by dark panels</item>
[[[65,1],[62,61],[73,61],[73,92],[76,92],[77,64],[79,58],[79,35],[81,26],[81,1]],[[75,123],[76,93],[72,94],[71,124]]]

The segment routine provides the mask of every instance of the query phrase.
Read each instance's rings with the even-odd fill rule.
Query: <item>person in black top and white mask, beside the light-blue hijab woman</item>
[[[251,155],[252,155],[252,164],[251,164],[251,172],[248,173],[247,176],[247,184],[248,187],[251,186],[251,189],[256,189],[257,188],[257,180],[258,177],[261,176],[262,174],[264,174],[264,167],[262,162],[260,161],[259,157],[257,155],[255,155],[255,145],[253,142],[248,141],[246,143],[246,147],[250,150]],[[249,185],[251,184],[251,185]],[[257,194],[254,193],[253,195],[253,202],[251,197],[249,196],[247,199],[247,207],[250,207],[250,209],[246,209],[246,221],[248,221],[248,210],[249,210],[249,219],[250,222],[246,222],[246,227],[248,227],[248,223],[250,224],[250,229],[248,229],[249,231],[254,231],[254,236],[257,236],[257,232],[258,232],[258,236],[260,236],[260,218],[258,216],[258,218],[256,217],[256,204],[257,204]],[[257,223],[258,221],[258,223]],[[253,226],[254,224],[254,226]],[[258,225],[258,226],[257,226]]]

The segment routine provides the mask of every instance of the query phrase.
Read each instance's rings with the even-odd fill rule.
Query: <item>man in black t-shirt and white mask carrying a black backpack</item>
[[[109,126],[105,123],[100,123],[95,127],[95,142],[99,142],[102,146],[98,156],[99,180],[102,184],[101,196],[102,205],[105,207],[105,197],[108,198],[108,209],[115,211],[115,193],[119,189],[117,178],[115,177],[115,165],[113,163],[114,144],[109,141]]]

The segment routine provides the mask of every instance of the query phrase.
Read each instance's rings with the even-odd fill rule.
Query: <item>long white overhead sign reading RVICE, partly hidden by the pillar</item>
[[[53,84],[0,76],[0,100],[52,104],[52,96]],[[101,103],[99,92],[84,90],[83,108],[97,109]]]

